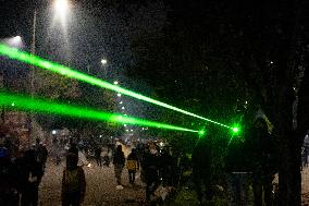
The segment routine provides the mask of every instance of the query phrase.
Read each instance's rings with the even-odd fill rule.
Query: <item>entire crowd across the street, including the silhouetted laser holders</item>
[[[0,205],[37,205],[38,186],[45,172],[48,152],[39,140],[26,150],[13,156],[8,133],[1,131],[0,142]],[[98,167],[109,167],[112,162],[116,181],[115,190],[123,190],[126,184],[122,180],[127,173],[128,183],[136,186],[136,175],[145,183],[146,201],[162,202],[175,194],[180,187],[196,191],[199,203],[210,203],[214,195],[212,179],[213,138],[211,133],[199,138],[191,153],[180,154],[171,147],[162,147],[156,142],[137,144],[126,157],[123,144],[94,144],[91,147],[94,161]],[[61,148],[60,148],[61,147]],[[61,152],[60,150],[65,152]],[[79,165],[81,153],[87,156],[89,147],[78,142],[60,143],[53,141],[51,156],[55,163],[65,157],[66,165],[62,177],[62,204],[81,205],[86,192],[85,172]],[[272,181],[277,172],[277,155],[274,138],[268,132],[267,122],[259,118],[247,130],[244,137],[233,136],[224,158],[225,187],[228,205],[248,205],[249,185],[254,192],[254,205],[272,206],[274,204]],[[91,157],[87,156],[87,159]],[[4,169],[3,169],[4,168]],[[7,170],[5,170],[7,169]],[[88,185],[90,186],[90,185]],[[158,194],[158,190],[160,190]]]

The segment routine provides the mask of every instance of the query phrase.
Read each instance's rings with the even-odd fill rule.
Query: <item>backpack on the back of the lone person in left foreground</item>
[[[65,193],[77,193],[81,191],[81,168],[75,170],[67,170],[63,171],[64,178],[64,191]]]

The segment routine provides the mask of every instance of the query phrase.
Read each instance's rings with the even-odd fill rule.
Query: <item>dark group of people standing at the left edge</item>
[[[36,206],[48,150],[37,138],[23,150],[13,150],[12,134],[0,128],[0,205]]]

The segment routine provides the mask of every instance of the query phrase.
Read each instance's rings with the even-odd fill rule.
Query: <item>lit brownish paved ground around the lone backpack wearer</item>
[[[59,206],[61,193],[61,179],[64,163],[55,166],[51,159],[47,162],[46,174],[42,178],[39,190],[39,203],[41,206]],[[145,189],[138,179],[132,187],[128,185],[127,171],[123,171],[123,184],[125,187],[118,191],[113,172],[113,166],[110,168],[99,168],[91,162],[91,167],[84,167],[87,181],[87,191],[84,206],[102,205],[143,205],[145,199]]]

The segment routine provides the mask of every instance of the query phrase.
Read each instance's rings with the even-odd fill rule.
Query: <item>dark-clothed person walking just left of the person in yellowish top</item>
[[[118,189],[123,189],[121,184],[121,174],[124,167],[124,162],[125,162],[124,153],[122,152],[122,146],[119,145],[113,156],[113,165],[114,165]]]

